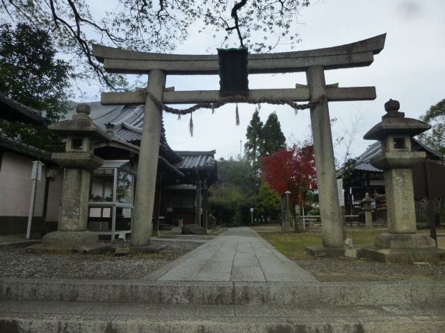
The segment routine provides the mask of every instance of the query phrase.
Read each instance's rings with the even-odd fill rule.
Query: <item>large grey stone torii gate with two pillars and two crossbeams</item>
[[[326,85],[324,71],[369,66],[373,56],[385,46],[384,35],[352,44],[326,49],[286,53],[251,54],[248,56],[249,74],[274,74],[305,71],[307,85],[293,89],[252,89],[250,99],[291,101],[319,101],[311,107],[311,124],[318,192],[321,207],[321,229],[325,248],[343,247],[343,221],[334,165],[334,150],[330,128],[328,101],[369,101],[375,99],[375,87],[347,87]],[[145,103],[145,121],[138,167],[135,209],[131,244],[149,244],[152,232],[154,189],[159,154],[159,137],[164,104],[217,103],[225,100],[219,91],[174,91],[165,89],[168,74],[218,74],[218,56],[191,56],[144,53],[93,45],[93,54],[104,63],[109,73],[148,74],[147,90],[137,92],[102,93],[104,105],[140,105]]]

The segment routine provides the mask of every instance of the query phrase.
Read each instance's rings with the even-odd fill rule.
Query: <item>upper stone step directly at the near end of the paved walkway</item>
[[[176,282],[0,279],[0,300],[184,305],[412,305],[445,303],[433,282]]]

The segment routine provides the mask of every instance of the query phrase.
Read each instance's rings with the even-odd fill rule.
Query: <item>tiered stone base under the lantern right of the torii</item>
[[[380,262],[437,262],[445,259],[445,250],[436,248],[426,234],[379,234],[375,245],[362,248],[362,256]]]

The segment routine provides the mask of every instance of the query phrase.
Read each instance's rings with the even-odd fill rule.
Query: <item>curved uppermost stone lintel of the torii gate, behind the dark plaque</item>
[[[385,46],[386,33],[350,44],[309,51],[250,54],[249,74],[306,71],[321,65],[324,69],[369,66],[373,55]],[[218,74],[218,56],[147,53],[93,45],[93,55],[109,73],[147,74],[161,69],[166,74]],[[186,62],[186,65],[184,64]]]

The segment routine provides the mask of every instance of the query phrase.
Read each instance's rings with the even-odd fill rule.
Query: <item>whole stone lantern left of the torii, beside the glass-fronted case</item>
[[[52,160],[65,168],[62,195],[62,218],[60,231],[49,232],[42,244],[34,246],[40,250],[97,253],[110,246],[99,243],[95,232],[88,228],[88,196],[90,172],[104,164],[94,155],[95,142],[109,141],[108,136],[88,117],[90,106],[79,104],[72,120],[54,123],[49,128],[67,137],[65,153],[53,153]]]

